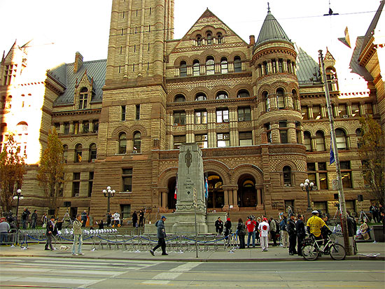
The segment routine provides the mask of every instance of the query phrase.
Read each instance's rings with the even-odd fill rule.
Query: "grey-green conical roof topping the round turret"
[[[257,42],[255,46],[258,46],[267,41],[288,41],[291,43],[290,38],[286,35],[285,31],[283,31],[281,25],[276,21],[275,17],[272,15],[270,10],[267,12],[267,16],[265,21],[262,24],[262,28],[260,29],[260,34],[258,36]]]

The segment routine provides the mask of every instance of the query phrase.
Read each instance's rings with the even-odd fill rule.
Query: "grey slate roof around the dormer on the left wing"
[[[64,93],[55,100],[54,106],[73,104],[76,80],[80,81],[81,78],[83,78],[85,71],[87,71],[86,76],[90,82],[93,78],[93,90],[95,94],[92,96],[92,102],[102,101],[102,87],[106,81],[106,63],[106,59],[83,62],[76,73],[73,73],[74,63],[62,64],[51,69],[50,74],[66,86]]]

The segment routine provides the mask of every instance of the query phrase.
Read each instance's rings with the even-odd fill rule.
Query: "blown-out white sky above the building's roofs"
[[[183,37],[209,8],[248,43],[250,35],[258,38],[267,15],[267,1],[289,38],[316,61],[318,50],[325,54],[326,48],[337,61],[349,57],[352,50],[337,38],[343,37],[348,27],[353,46],[356,36],[365,35],[379,6],[379,0],[175,0],[174,38]],[[80,51],[84,61],[106,59],[111,3],[112,0],[0,0],[0,50],[7,53],[15,39],[18,45],[34,39],[34,45],[47,51],[45,56],[57,64],[73,62],[76,51]],[[323,16],[329,6],[339,15]],[[382,27],[385,30],[385,25]],[[349,64],[346,59],[344,65]]]

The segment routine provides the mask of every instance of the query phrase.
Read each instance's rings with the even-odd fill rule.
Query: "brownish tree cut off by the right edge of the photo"
[[[384,204],[385,194],[385,146],[384,131],[381,125],[367,115],[360,118],[363,134],[360,139],[358,153],[363,160],[363,177],[370,185],[372,195]]]

